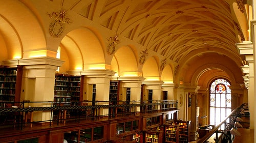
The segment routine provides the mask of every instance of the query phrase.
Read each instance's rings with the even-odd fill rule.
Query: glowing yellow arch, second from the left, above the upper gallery
[[[69,70],[105,69],[105,56],[99,37],[89,28],[69,32],[61,41],[69,55]]]

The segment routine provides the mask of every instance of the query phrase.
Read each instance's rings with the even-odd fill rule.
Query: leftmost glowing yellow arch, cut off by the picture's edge
[[[0,61],[47,56],[45,33],[26,5],[20,1],[1,1],[0,13]]]

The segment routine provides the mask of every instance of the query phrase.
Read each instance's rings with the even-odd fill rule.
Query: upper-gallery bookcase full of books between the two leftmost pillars
[[[64,105],[78,105],[81,101],[81,76],[55,75],[54,102],[62,102]]]

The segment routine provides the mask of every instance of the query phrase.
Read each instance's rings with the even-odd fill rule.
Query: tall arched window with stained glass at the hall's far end
[[[210,125],[219,125],[231,113],[230,83],[216,79],[210,85]],[[221,127],[222,128],[222,127]]]

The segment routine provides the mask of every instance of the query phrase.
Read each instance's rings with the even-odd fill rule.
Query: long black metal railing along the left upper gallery
[[[135,116],[137,113],[142,114],[157,111],[176,110],[178,107],[177,105],[177,100],[81,102],[24,100],[23,102],[0,102],[0,119],[2,119],[0,121],[0,126],[17,125],[17,128],[20,129],[27,124],[32,126],[32,122],[35,122],[33,121],[33,113],[36,111],[49,111],[49,120],[36,122],[50,122],[51,126],[52,122],[54,121],[59,124],[60,122],[66,123],[66,121],[70,119],[80,122],[80,120],[86,120],[88,118],[98,120],[100,117],[116,118],[126,115]],[[100,114],[100,110],[108,110],[108,115]],[[30,118],[32,118],[30,122],[28,122],[27,117],[29,114]],[[68,117],[68,119],[66,119],[66,117]],[[7,124],[7,120],[12,120],[12,122]]]

